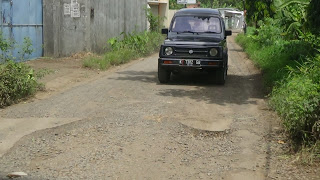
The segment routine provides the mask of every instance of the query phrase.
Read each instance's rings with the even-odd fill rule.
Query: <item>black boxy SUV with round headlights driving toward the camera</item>
[[[218,84],[224,84],[228,71],[224,21],[217,9],[182,9],[174,15],[169,29],[162,29],[167,39],[161,45],[158,78],[167,83],[172,73],[207,71]]]

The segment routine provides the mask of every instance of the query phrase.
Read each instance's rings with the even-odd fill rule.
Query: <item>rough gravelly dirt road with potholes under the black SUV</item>
[[[317,179],[278,161],[273,150],[284,145],[274,137],[280,128],[261,74],[234,37],[228,41],[225,86],[206,74],[160,85],[153,55],[1,110],[0,179],[14,171],[24,179]],[[43,128],[50,129],[24,136]],[[17,129],[24,137],[15,143]]]

